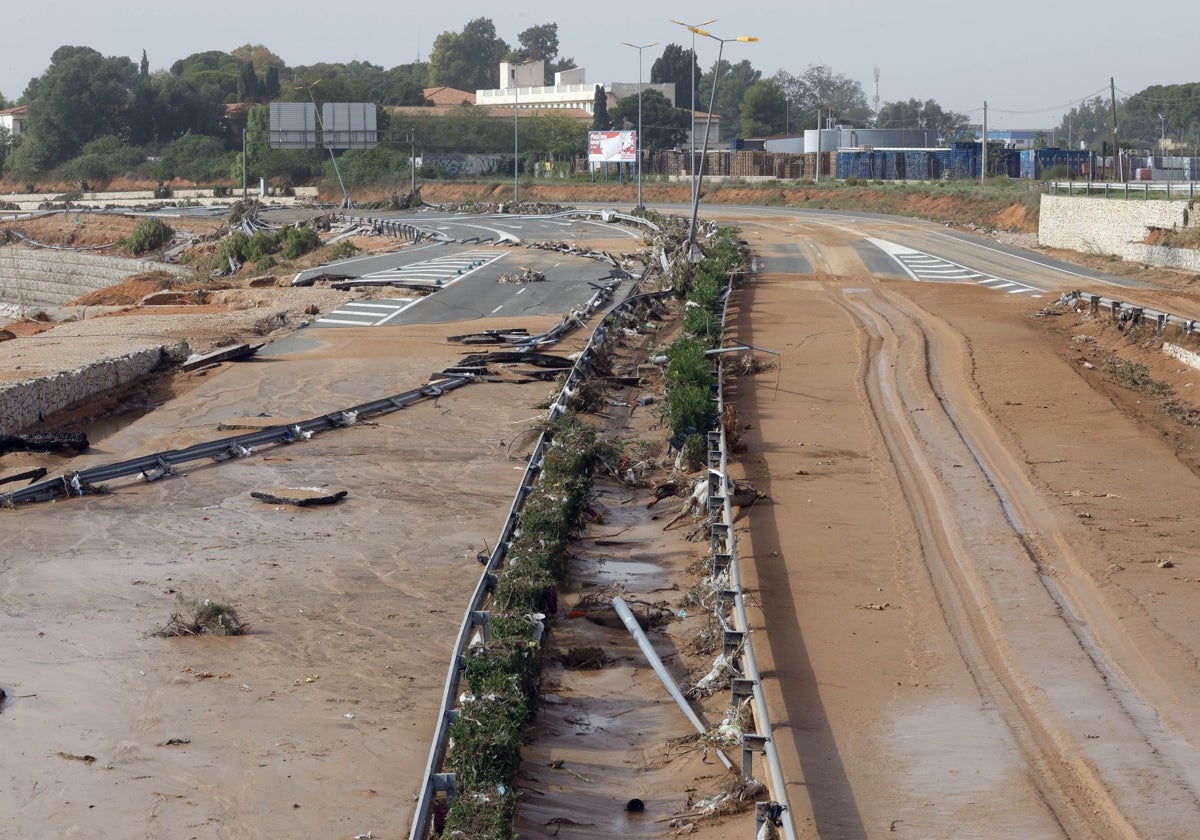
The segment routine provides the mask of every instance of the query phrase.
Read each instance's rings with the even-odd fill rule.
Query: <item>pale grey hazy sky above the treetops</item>
[[[994,128],[1057,125],[1072,103],[1108,96],[1109,77],[1116,78],[1118,96],[1200,80],[1194,60],[1200,7],[1189,4],[1151,13],[1112,0],[32,0],[5,10],[0,92],[17,98],[62,44],[134,61],[145,49],[151,70],[245,43],[265,44],[288,65],[358,59],[392,67],[427,59],[438,34],[461,31],[478,17],[491,18],[497,35],[514,46],[524,29],[558,23],[562,55],[584,67],[589,83],[636,82],[637,52],[622,42],[658,41],[643,52],[649,82],[664,46],[691,46],[691,34],[668,18],[719,18],[708,26],[716,36],[761,38],[726,44],[725,58],[749,59],[763,76],[823,64],[858,80],[870,101],[878,66],[881,102],[931,98],[978,121],[986,100]],[[701,67],[713,64],[716,48],[715,41],[696,38]]]

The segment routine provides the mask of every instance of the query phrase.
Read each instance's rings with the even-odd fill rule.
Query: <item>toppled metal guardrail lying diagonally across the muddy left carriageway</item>
[[[187,449],[173,449],[155,452],[154,455],[143,455],[128,461],[119,461],[116,463],[71,472],[0,494],[0,505],[14,505],[19,502],[47,502],[62,494],[80,496],[86,485],[97,485],[114,479],[142,475],[143,473],[148,475],[156,472],[157,475],[170,474],[180,464],[203,461],[205,458],[218,462],[227,461],[234,456],[248,455],[260,446],[288,444],[311,433],[352,425],[352,418],[366,419],[395,412],[421,400],[433,400],[446,391],[462,388],[472,382],[474,382],[474,377],[470,376],[446,377],[395,396],[372,400],[371,402],[330,414],[322,414],[320,416],[298,424],[271,426],[258,432],[248,432],[246,434],[236,434],[221,438],[220,440],[196,444]]]

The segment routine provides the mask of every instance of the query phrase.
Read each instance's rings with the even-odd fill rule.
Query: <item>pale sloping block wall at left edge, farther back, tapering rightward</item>
[[[144,271],[184,272],[148,259],[6,245],[0,247],[0,304],[24,308],[61,306]]]

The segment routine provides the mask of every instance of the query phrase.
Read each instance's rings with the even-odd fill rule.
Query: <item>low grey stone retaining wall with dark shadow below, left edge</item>
[[[16,434],[44,415],[145,376],[162,361],[163,353],[161,346],[149,347],[73,371],[0,385],[0,436]]]

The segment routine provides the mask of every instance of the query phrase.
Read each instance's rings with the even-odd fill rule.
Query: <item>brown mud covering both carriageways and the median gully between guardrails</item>
[[[767,226],[762,235],[766,248],[784,245]],[[732,398],[740,474],[768,494],[739,520],[739,539],[802,835],[1184,836],[1198,816],[1200,434],[1178,406],[1192,404],[1200,373],[1085,313],[1037,317],[1045,301],[878,282],[846,250],[832,265],[740,288],[730,330],[782,352],[778,367],[734,380]],[[1171,311],[1200,313],[1189,278],[1163,276]],[[298,334],[188,383],[90,457],[402,390],[455,358],[444,331],[366,346],[353,330]],[[1122,384],[1114,352],[1171,394]],[[5,514],[20,530],[0,566],[0,644],[19,655],[6,659],[18,677],[0,674],[12,744],[0,812],[59,836],[404,834],[455,605],[548,389],[467,391],[260,458]],[[893,398],[908,402],[889,412]],[[653,416],[623,402],[598,422],[655,439]],[[968,475],[978,467],[955,449],[961,438],[935,416],[943,404],[1026,517],[1031,554],[1016,546],[971,565],[979,552],[962,546],[1012,535],[989,482]],[[289,482],[352,492],[323,511],[248,498]],[[601,484],[564,606],[619,584],[688,612],[702,546],[659,542],[661,522],[634,522],[644,492]],[[613,540],[629,542],[598,545]],[[179,594],[238,602],[252,634],[150,636]],[[1092,647],[1064,630],[1063,612]],[[583,638],[572,623],[587,620],[568,616],[552,630],[558,702],[527,756],[522,833],[673,835],[671,821],[721,774],[679,740],[685,730],[626,637],[593,631],[610,634],[608,664],[566,680],[559,660]],[[685,650],[689,620],[662,636],[680,674],[704,661]],[[1133,686],[1162,728],[1114,700],[1109,680]],[[640,704],[623,697],[635,691]],[[578,746],[593,743],[611,752]],[[630,820],[630,796],[652,810]],[[682,830],[749,836],[744,820]]]

